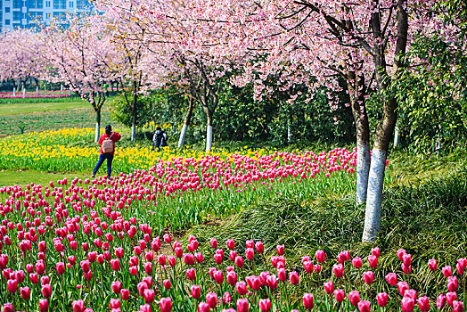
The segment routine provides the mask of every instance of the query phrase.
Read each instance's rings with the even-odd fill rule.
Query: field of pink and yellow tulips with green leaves
[[[92,133],[7,137],[0,162],[90,170],[98,150],[78,143]],[[398,250],[400,272],[382,272],[384,250],[376,247],[337,259],[315,250],[297,266],[287,259],[291,246],[266,254],[258,240],[213,237],[201,246],[193,235],[174,235],[276,195],[353,192],[355,150],[117,152],[110,180],[0,188],[0,311],[463,311],[467,259],[412,267],[412,256]],[[426,269],[446,280],[436,298],[411,288]]]

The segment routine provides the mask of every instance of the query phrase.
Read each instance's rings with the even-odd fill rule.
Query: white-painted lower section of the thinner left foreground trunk
[[[356,144],[356,204],[366,201],[368,175],[370,174],[370,143]]]

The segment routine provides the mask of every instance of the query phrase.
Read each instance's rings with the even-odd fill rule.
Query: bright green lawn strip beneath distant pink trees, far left
[[[73,109],[90,108],[91,104],[84,101],[63,103],[14,103],[0,104],[0,116],[31,114],[44,111],[69,111]]]

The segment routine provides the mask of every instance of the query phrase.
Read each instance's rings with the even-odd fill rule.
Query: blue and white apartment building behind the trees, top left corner
[[[30,28],[36,19],[48,23],[54,18],[64,19],[66,12],[93,9],[89,0],[0,0],[0,28]]]

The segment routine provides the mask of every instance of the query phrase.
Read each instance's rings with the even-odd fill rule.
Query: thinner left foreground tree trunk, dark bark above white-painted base
[[[360,205],[366,202],[370,174],[370,126],[363,91],[365,90],[364,76],[356,78],[355,72],[349,72],[347,86],[352,115],[356,124],[356,204]]]

